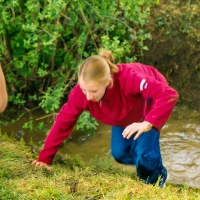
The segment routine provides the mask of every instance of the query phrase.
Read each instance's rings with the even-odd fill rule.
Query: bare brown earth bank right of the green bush
[[[157,67],[180,95],[200,110],[200,2],[162,1],[152,8],[152,40],[144,62]]]

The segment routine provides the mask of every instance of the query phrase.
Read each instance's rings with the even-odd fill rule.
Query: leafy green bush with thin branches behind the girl
[[[150,8],[158,1],[1,0],[0,62],[9,101],[55,112],[82,59],[107,48],[117,62],[142,60]]]

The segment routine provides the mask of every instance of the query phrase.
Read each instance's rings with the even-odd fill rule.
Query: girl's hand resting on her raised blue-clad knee
[[[122,136],[126,139],[129,139],[134,133],[137,132],[136,136],[134,137],[134,140],[137,140],[142,133],[150,131],[152,126],[153,125],[147,121],[133,123],[124,129]]]

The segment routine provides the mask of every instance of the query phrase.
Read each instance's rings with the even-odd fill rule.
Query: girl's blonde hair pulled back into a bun
[[[102,50],[99,55],[88,57],[79,67],[78,79],[84,81],[95,80],[104,82],[113,73],[118,72],[118,67],[114,63],[114,56],[109,50]]]

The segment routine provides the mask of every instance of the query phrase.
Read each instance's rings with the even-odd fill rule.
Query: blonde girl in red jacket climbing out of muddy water
[[[35,166],[48,166],[61,143],[72,132],[79,115],[87,110],[112,126],[111,154],[119,163],[136,165],[137,176],[163,187],[159,137],[178,100],[164,76],[140,63],[115,64],[111,51],[87,58],[79,67],[78,83],[60,110]]]

